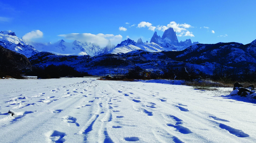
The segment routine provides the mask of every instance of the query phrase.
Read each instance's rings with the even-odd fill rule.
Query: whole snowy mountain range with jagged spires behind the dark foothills
[[[157,41],[156,41],[157,39]],[[190,39],[180,43],[178,42],[176,33],[172,28],[164,31],[162,38],[157,36],[156,32],[151,38],[150,43],[143,43],[141,38],[137,42],[127,39],[122,41],[120,44],[111,45],[110,40],[106,47],[100,47],[97,44],[90,42],[66,42],[64,40],[57,41],[56,43],[38,43],[28,42],[18,38],[12,31],[1,31],[0,32],[0,45],[4,48],[23,54],[27,57],[33,56],[38,51],[51,52],[57,55],[89,55],[97,56],[103,53],[112,54],[124,54],[134,50],[142,49],[148,52],[160,52],[160,51],[180,51],[186,49],[188,46],[197,44],[198,42],[192,43]]]

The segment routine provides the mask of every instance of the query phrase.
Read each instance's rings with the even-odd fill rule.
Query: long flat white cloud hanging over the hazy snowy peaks
[[[112,44],[118,44],[122,41],[121,35],[114,34],[91,34],[91,33],[71,33],[71,34],[60,34],[60,37],[64,37],[68,40],[77,40],[81,42],[91,42],[101,47],[105,47],[108,44],[108,39]]]

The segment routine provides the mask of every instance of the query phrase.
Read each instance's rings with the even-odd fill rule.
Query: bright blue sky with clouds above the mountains
[[[84,40],[104,45],[111,39],[116,45],[129,36],[149,42],[155,31],[162,36],[168,24],[179,41],[248,44],[256,39],[255,0],[12,0],[0,5],[0,31],[11,30],[19,38],[27,34],[28,41]]]

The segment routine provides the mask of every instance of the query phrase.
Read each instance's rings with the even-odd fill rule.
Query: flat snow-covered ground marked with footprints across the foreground
[[[256,142],[255,104],[229,98],[226,88],[89,78],[0,85],[1,143]]]

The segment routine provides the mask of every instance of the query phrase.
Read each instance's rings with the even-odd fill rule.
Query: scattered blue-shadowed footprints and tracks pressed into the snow
[[[63,87],[65,88],[65,87]],[[92,88],[92,86],[88,86],[87,88]],[[85,89],[84,92],[77,92],[78,89],[81,89],[81,88],[76,88],[76,89],[73,89],[73,93],[81,93],[81,94],[84,94],[84,92],[88,92]],[[56,93],[56,92],[59,92],[60,89],[56,89],[56,90],[51,90],[50,93]],[[69,90],[65,90],[65,91],[69,91]],[[72,96],[71,92],[66,92],[66,93],[63,93],[64,95],[62,97],[69,97],[69,96]],[[106,91],[104,91],[106,92]],[[124,91],[123,90],[118,90],[119,93],[123,93]],[[103,93],[103,92],[102,92]],[[108,93],[105,93],[106,95],[108,95]],[[20,96],[23,96],[24,94],[21,94]],[[92,95],[92,94],[87,94],[87,95],[82,95],[83,97],[88,97],[89,95]],[[130,96],[130,95],[134,95],[133,93],[128,93],[128,94],[123,94],[124,96]],[[157,95],[159,95],[159,93],[153,93],[153,94],[149,94],[150,96],[153,96],[153,97],[156,97]],[[41,96],[45,96],[45,93],[39,93],[39,94],[36,94],[36,95],[33,95],[31,96],[30,98],[38,98],[38,97],[41,97]],[[118,96],[116,96],[118,97]],[[47,97],[44,97],[42,99],[40,99],[40,101],[38,102],[42,102],[42,103],[46,103],[46,104],[50,104],[58,99],[52,99],[52,98],[55,98],[55,96],[47,96]],[[93,97],[94,99],[99,99],[100,97]],[[132,98],[132,97],[130,97]],[[135,99],[134,99],[135,98]],[[14,106],[13,108],[24,108],[26,106],[35,106],[37,105],[36,103],[25,103],[28,101],[28,97],[26,97],[24,95],[24,97],[17,97],[17,98],[13,98],[11,99],[10,101],[7,101],[6,103],[9,103],[10,105],[9,106]],[[137,102],[137,103],[140,103],[141,101],[139,100],[140,97],[133,97],[132,101],[133,102]],[[166,98],[158,98],[161,102],[166,102],[167,99]],[[25,101],[26,100],[26,101]],[[112,99],[116,102],[121,102],[121,101],[118,101],[117,99]],[[88,101],[88,103],[93,103],[94,100],[91,100],[91,101]],[[111,112],[115,115],[116,118],[124,118],[124,116],[117,116],[116,114],[118,114],[120,111],[119,110],[114,110],[113,107],[118,107],[118,106],[111,106],[113,105],[113,103],[110,103],[111,102],[111,99],[109,100],[109,108],[108,109],[111,109]],[[84,108],[86,106],[91,106],[90,104],[84,104],[84,105],[81,105],[79,107],[75,107],[77,109],[81,109],[81,108]],[[153,102],[148,102],[147,105],[144,105],[148,108],[156,108],[156,104],[153,103]],[[99,107],[102,107],[102,103],[99,104]],[[175,105],[175,107],[177,107],[178,109],[180,109],[180,111],[184,111],[184,112],[187,112],[189,111],[187,108],[187,105],[183,105],[181,103],[178,103],[178,105]],[[52,110],[52,113],[60,113],[62,110],[61,109],[56,109],[56,110]],[[113,114],[110,112],[109,114],[109,118],[108,118],[108,122],[111,122],[113,120]],[[153,112],[152,111],[148,111],[146,109],[143,109],[143,112],[145,114],[147,114],[148,116],[153,116]],[[21,115],[22,117],[25,116],[26,114],[29,114],[29,113],[33,113],[33,111],[26,111],[24,112],[23,115]],[[100,114],[103,114],[105,113],[104,111],[100,112]],[[171,124],[171,123],[167,123],[166,125],[167,126],[170,126],[174,129],[176,129],[175,131],[177,132],[180,132],[182,134],[190,134],[192,133],[188,128],[182,126],[183,124],[183,120],[181,120],[180,118],[178,117],[175,117],[173,115],[166,115],[168,118],[171,118],[174,122],[176,122],[175,124]],[[91,124],[89,124],[89,126],[84,130],[84,132],[82,132],[82,134],[84,134],[84,141],[87,140],[87,137],[88,137],[88,133],[90,131],[92,131],[92,126],[94,124],[94,122],[97,120],[97,118],[99,117],[99,115],[95,115],[94,119],[92,120]],[[229,122],[228,120],[225,120],[225,119],[221,119],[221,118],[218,118],[218,117],[215,117],[213,115],[211,116],[208,116],[210,119],[213,119],[213,120],[216,120],[216,121],[222,121],[222,122]],[[75,117],[72,117],[72,116],[65,116],[65,117],[62,117],[63,118],[63,121],[67,122],[67,123],[70,123],[70,124],[75,124],[77,127],[80,126],[80,124],[77,123],[77,119]],[[225,125],[225,124],[222,124],[222,123],[219,123],[219,122],[216,122],[216,121],[212,121],[213,124],[215,124],[216,126],[218,126],[220,129],[224,129],[224,130],[227,130],[229,133],[237,136],[237,137],[249,137],[248,134],[244,133],[242,130],[238,130],[238,129],[235,129],[235,128],[232,128],[228,125]],[[15,120],[13,120],[13,122],[16,122]],[[113,125],[112,128],[115,128],[115,129],[118,129],[118,128],[122,128],[122,126],[120,125]],[[64,136],[66,136],[66,133],[64,132],[59,132],[59,131],[52,131],[52,132],[48,132],[49,134],[49,139],[52,141],[52,142],[65,142],[65,139],[64,139]],[[113,142],[112,139],[109,137],[108,135],[108,132],[107,132],[107,129],[105,128],[104,129],[104,136],[105,136],[105,139],[104,139],[104,142]],[[172,137],[173,141],[174,142],[182,142],[180,139],[178,139],[177,137],[173,136]],[[124,138],[125,141],[138,141],[139,138],[138,137],[125,137]]]

